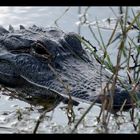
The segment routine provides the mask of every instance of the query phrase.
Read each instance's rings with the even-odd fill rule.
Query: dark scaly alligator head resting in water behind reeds
[[[15,30],[0,27],[0,84],[24,97],[41,97],[74,105],[79,102],[102,104],[113,95],[113,109],[133,106],[119,82],[114,93],[103,89],[112,83],[112,73],[82,45],[78,34],[56,27],[33,25]],[[126,84],[127,80],[124,80]],[[113,90],[112,90],[113,91]],[[140,97],[140,92],[137,92]]]

